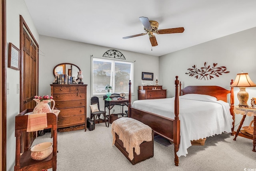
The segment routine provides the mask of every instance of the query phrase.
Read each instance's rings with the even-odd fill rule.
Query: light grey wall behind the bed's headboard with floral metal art
[[[174,96],[174,80],[177,75],[182,87],[189,85],[218,85],[230,89],[230,80],[236,78],[237,73],[249,73],[250,78],[256,83],[256,28],[241,31],[206,43],[195,45],[174,53],[159,57],[159,80],[168,89],[168,97]],[[218,63],[217,67],[225,66],[230,73],[224,73],[220,77],[211,80],[198,80],[185,74],[188,68],[196,65],[203,67],[207,62],[211,67]],[[239,101],[236,97],[239,88],[234,88],[235,104]],[[246,88],[250,99],[256,97],[256,87]],[[242,115],[236,115],[235,125],[240,122]],[[246,117],[244,126],[248,126],[252,117]],[[237,129],[237,127],[236,127]],[[235,130],[236,130],[235,129]]]

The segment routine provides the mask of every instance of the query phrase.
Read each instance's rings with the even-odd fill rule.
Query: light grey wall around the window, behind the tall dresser
[[[45,56],[39,55],[39,95],[50,95],[50,84],[54,81],[53,68],[60,63],[73,63],[83,71],[83,82],[87,84],[87,116],[90,117],[90,98],[91,98],[91,55],[93,57],[102,57],[103,54],[113,49],[111,47],[102,47],[65,39],[58,39],[40,35],[40,51]],[[158,57],[152,55],[144,55],[129,51],[120,51],[125,61],[134,62],[134,96],[132,101],[138,99],[138,86],[141,85],[142,72],[154,73],[154,80],[158,75]],[[40,52],[40,54],[43,54]],[[145,83],[150,83],[145,81]],[[128,83],[127,83],[128,84]],[[128,98],[128,94],[126,96]],[[104,110],[103,97],[100,98],[100,108]],[[115,112],[116,111],[115,106]],[[120,108],[117,108],[120,110]]]

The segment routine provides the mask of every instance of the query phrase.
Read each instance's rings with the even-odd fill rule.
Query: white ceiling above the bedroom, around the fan
[[[40,35],[155,56],[256,27],[256,0],[24,1]],[[185,31],[155,34],[152,50],[148,35],[122,39],[144,33],[141,16]]]

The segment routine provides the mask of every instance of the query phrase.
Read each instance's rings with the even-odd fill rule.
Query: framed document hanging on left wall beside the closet
[[[8,67],[16,70],[20,70],[20,49],[9,43],[8,51]]]

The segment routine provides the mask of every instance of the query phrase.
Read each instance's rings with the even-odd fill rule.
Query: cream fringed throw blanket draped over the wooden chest
[[[152,129],[138,120],[127,117],[119,118],[112,123],[111,127],[113,135],[112,145],[116,142],[115,134],[117,134],[124,143],[130,160],[134,158],[133,148],[135,153],[140,155],[140,144],[144,141],[152,141]]]

